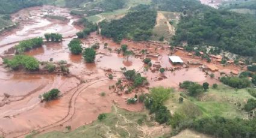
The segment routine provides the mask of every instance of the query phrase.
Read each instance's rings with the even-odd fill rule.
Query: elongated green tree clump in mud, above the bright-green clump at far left
[[[27,50],[40,47],[43,44],[43,38],[37,37],[29,40],[20,41],[18,45],[15,46],[16,53],[24,53]]]

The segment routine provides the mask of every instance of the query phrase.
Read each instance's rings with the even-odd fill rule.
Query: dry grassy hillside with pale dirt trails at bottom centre
[[[139,125],[138,119],[142,119],[143,124]],[[128,112],[113,106],[113,111],[107,113],[107,118],[102,121],[84,125],[69,133],[53,131],[39,136],[31,134],[30,137],[158,137],[164,134],[162,130],[170,129],[169,127],[164,129],[160,125],[154,126],[154,122],[149,119],[148,112]]]

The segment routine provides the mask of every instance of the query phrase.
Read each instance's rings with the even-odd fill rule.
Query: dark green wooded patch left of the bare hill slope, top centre
[[[155,26],[156,11],[134,11],[119,20],[101,22],[101,35],[120,43],[123,38],[134,41],[148,40]]]

